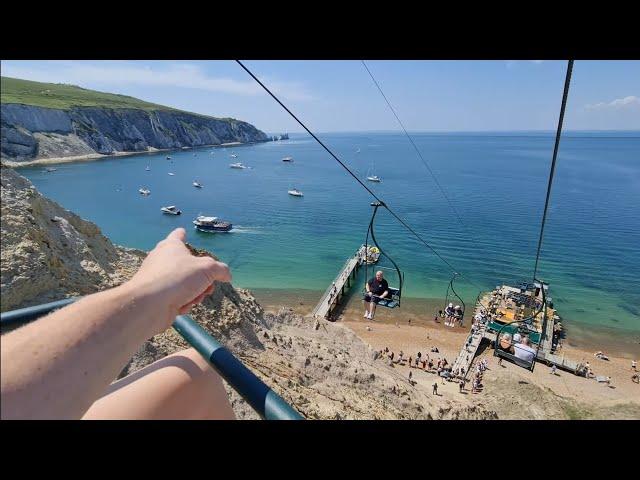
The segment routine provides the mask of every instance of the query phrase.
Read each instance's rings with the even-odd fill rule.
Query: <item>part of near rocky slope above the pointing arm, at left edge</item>
[[[0,174],[2,311],[93,293],[135,272],[144,252],[113,245],[12,169]]]

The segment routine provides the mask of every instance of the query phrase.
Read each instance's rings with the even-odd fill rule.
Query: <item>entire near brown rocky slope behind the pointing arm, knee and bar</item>
[[[145,253],[113,245],[93,223],[36,191],[9,168],[2,183],[2,311],[84,295],[130,278]],[[265,312],[248,290],[218,284],[192,317],[306,418],[496,418],[482,405],[443,400],[410,385],[398,369],[340,324]],[[120,377],[189,345],[174,330],[156,335]],[[258,418],[235,391],[238,418]]]

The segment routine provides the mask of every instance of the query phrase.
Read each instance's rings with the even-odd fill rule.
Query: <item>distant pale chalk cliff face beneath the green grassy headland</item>
[[[246,122],[177,110],[97,107],[56,110],[2,104],[0,118],[0,153],[3,159],[14,162],[269,139]]]

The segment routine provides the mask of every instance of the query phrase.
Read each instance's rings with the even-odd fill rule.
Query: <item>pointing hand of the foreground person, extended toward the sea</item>
[[[125,285],[152,304],[163,306],[166,328],[178,314],[213,292],[214,281],[231,282],[229,267],[211,257],[195,257],[184,244],[186,232],[177,228],[149,252],[138,272]]]

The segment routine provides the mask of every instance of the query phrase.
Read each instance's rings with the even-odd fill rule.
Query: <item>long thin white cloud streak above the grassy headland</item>
[[[4,62],[3,62],[4,63]],[[50,62],[37,67],[15,64],[2,66],[3,75],[41,82],[70,83],[75,85],[164,86],[256,96],[266,94],[254,80],[236,80],[207,74],[199,65],[170,62],[158,67],[123,62]],[[288,100],[313,100],[306,88],[297,82],[263,79],[274,93]]]

